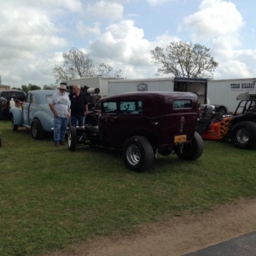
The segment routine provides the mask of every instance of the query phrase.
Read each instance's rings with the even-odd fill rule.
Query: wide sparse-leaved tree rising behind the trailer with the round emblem
[[[159,73],[172,73],[176,77],[194,77],[212,79],[212,73],[218,67],[210,54],[210,49],[201,44],[172,42],[164,49],[151,50],[154,63],[162,64]]]

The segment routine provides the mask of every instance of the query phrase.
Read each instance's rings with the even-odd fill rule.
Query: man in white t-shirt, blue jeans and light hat
[[[55,116],[54,143],[55,147],[65,145],[67,119],[69,119],[70,100],[67,95],[66,83],[61,83],[57,92],[49,100],[49,108]]]

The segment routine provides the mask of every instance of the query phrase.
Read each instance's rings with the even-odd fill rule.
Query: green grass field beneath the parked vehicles
[[[95,236],[136,232],[137,224],[200,213],[255,197],[255,150],[205,141],[199,160],[158,156],[131,172],[121,154],[55,148],[0,121],[0,255],[38,255]]]

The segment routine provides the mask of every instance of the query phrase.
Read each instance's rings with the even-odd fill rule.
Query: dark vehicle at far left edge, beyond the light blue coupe
[[[0,91],[0,119],[10,119],[9,115],[10,100],[13,98],[15,106],[21,108],[26,99],[26,93],[23,90],[1,90]]]

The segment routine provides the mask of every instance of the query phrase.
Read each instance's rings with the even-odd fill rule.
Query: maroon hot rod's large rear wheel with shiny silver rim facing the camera
[[[123,146],[125,165],[135,172],[148,170],[154,162],[154,150],[145,137],[130,137]]]

